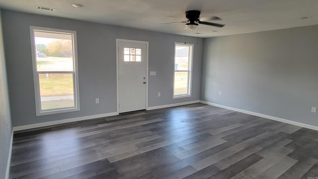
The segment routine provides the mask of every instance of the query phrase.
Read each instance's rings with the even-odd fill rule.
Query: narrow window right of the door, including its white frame
[[[174,44],[173,98],[191,96],[193,44]]]

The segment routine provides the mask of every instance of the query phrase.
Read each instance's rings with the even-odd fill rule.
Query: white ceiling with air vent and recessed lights
[[[75,8],[73,3],[83,4]],[[55,8],[55,11],[35,6]],[[217,28],[199,25],[199,37],[214,37],[318,24],[318,0],[0,0],[0,8],[67,17],[165,33],[184,35],[186,10],[201,10],[200,17],[221,17]],[[300,20],[298,17],[311,16]],[[218,30],[213,32],[212,30]],[[197,29],[187,30],[197,36]]]

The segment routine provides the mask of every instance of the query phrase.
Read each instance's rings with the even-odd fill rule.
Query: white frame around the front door
[[[119,114],[119,88],[118,88],[118,75],[119,75],[119,56],[118,56],[118,52],[119,52],[119,47],[118,47],[118,43],[119,42],[128,42],[128,43],[139,43],[139,44],[146,44],[146,110],[148,110],[148,59],[149,59],[149,42],[146,41],[138,41],[138,40],[127,40],[127,39],[117,39],[116,38],[116,92],[117,92],[117,104],[116,104],[116,108],[117,108],[117,115]]]

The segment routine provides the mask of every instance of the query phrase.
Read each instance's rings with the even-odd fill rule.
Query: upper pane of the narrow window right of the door
[[[189,69],[189,47],[188,46],[175,46],[175,70],[188,70]]]

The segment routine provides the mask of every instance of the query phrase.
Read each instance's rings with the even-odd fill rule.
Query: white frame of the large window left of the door
[[[62,33],[72,35],[73,40],[73,71],[37,71],[36,62],[36,49],[35,49],[35,36],[34,31],[44,31],[52,33]],[[35,96],[35,109],[36,116],[58,114],[64,112],[79,111],[79,69],[78,69],[78,47],[77,47],[77,32],[73,30],[64,30],[56,28],[30,26],[31,38],[31,54],[32,54],[32,68],[33,68],[33,83],[34,83],[34,96]],[[40,96],[40,82],[39,74],[73,74],[73,90],[74,90],[74,104],[72,107],[54,108],[54,109],[41,109],[41,96]]]

